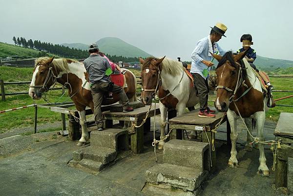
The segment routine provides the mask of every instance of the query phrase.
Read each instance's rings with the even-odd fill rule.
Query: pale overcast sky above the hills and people
[[[90,44],[117,37],[156,57],[190,61],[216,22],[225,50],[250,33],[258,55],[293,60],[293,0],[0,0],[0,42],[12,38]]]

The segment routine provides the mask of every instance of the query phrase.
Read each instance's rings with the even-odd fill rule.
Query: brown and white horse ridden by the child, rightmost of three
[[[231,156],[228,165],[232,168],[238,166],[236,158],[236,141],[237,141],[237,119],[238,114],[245,119],[248,128],[251,127],[251,118],[256,121],[257,140],[264,141],[263,128],[266,119],[267,99],[263,96],[260,81],[252,71],[250,64],[243,59],[246,51],[237,55],[227,52],[223,57],[219,55],[212,56],[219,61],[216,68],[217,76],[217,96],[215,107],[219,111],[227,111],[227,116],[231,127]],[[243,63],[240,60],[243,59]],[[236,105],[236,107],[235,107]],[[254,140],[255,141],[255,140]],[[246,149],[252,150],[252,137],[248,133]],[[259,143],[259,167],[257,174],[269,176],[270,171],[266,165],[266,157],[264,152],[264,144]]]

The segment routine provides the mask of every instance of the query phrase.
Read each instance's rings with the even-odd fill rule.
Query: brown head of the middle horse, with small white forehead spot
[[[152,98],[155,96],[156,91],[159,89],[160,73],[162,68],[160,64],[165,57],[157,59],[154,57],[148,57],[146,60],[139,59],[142,66],[142,94],[141,101],[145,105],[151,105]]]

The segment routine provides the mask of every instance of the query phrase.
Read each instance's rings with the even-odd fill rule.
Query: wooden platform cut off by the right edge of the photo
[[[281,112],[273,133],[281,139],[281,148],[277,148],[276,187],[287,187],[288,157],[293,157],[293,113]]]

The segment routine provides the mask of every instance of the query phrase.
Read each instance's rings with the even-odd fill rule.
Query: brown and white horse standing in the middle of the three
[[[195,106],[199,99],[181,62],[165,57],[148,57],[146,60],[140,58],[140,63],[143,65],[141,101],[151,105],[156,91],[160,98],[162,140],[165,138],[167,110],[176,109],[181,115],[185,113],[186,107]],[[164,142],[160,142],[158,148],[162,149],[163,145]]]

